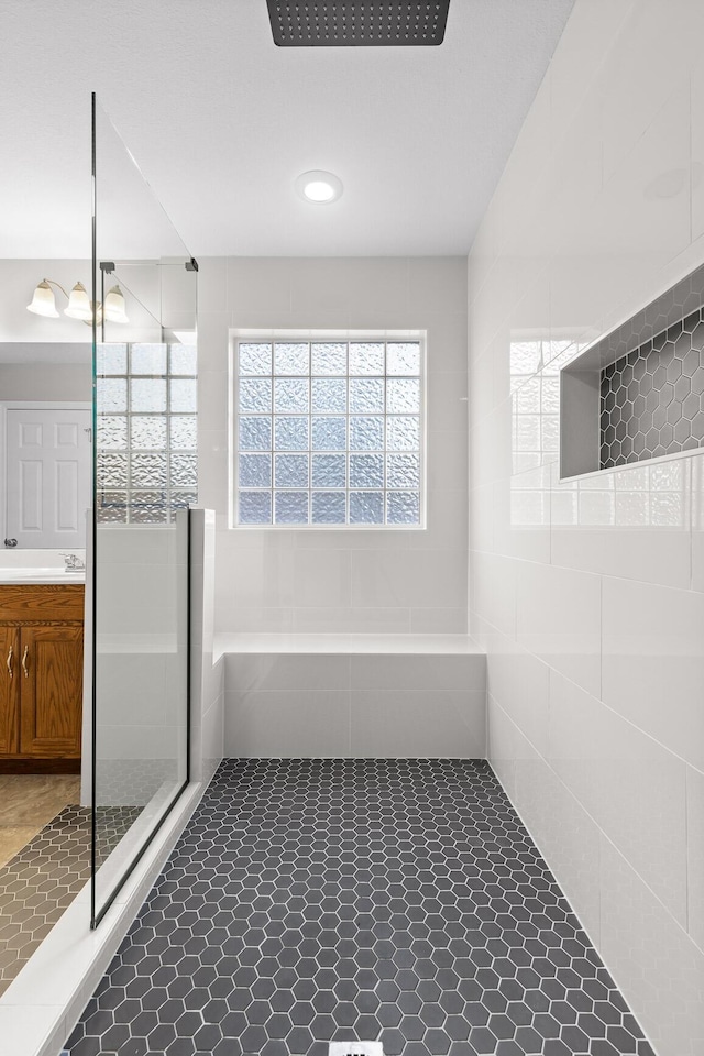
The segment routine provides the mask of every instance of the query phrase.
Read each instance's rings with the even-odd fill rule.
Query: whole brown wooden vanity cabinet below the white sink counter
[[[0,773],[80,770],[84,587],[0,585]]]

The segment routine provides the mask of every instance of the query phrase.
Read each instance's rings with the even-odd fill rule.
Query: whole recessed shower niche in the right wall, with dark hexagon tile
[[[560,372],[560,477],[704,448],[704,265]]]

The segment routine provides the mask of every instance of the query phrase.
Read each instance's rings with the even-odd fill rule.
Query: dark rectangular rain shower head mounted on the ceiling
[[[266,0],[279,47],[442,44],[450,0]]]

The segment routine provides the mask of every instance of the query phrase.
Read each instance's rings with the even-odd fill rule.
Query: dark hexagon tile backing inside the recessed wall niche
[[[601,375],[601,469],[704,444],[704,309]]]

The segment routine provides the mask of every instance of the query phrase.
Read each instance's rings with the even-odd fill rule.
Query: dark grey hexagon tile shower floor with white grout
[[[490,766],[228,760],[70,1056],[652,1056]]]

